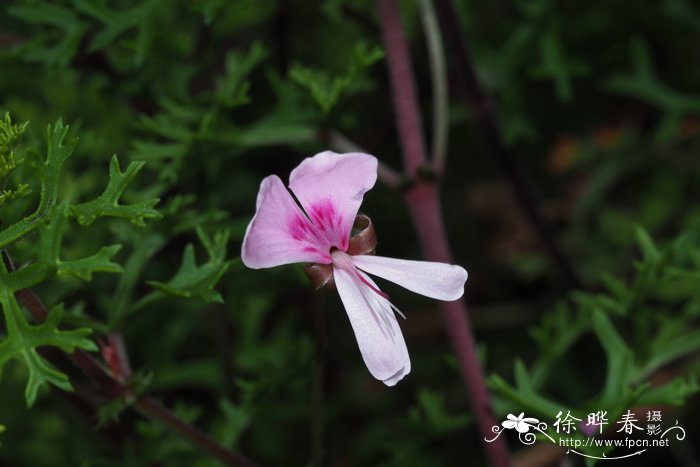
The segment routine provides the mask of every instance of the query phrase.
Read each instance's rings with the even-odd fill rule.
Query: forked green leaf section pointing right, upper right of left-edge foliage
[[[149,199],[135,204],[119,204],[126,187],[131,183],[136,174],[143,168],[144,162],[132,162],[125,172],[119,167],[117,156],[112,156],[109,164],[109,182],[104,193],[87,203],[76,204],[71,207],[72,214],[80,225],[90,225],[98,217],[121,217],[129,222],[145,226],[144,219],[159,219],[160,213],[153,209],[160,199]]]

